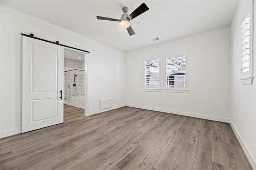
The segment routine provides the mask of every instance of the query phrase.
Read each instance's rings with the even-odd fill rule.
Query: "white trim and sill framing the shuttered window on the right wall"
[[[250,13],[250,75],[248,77],[242,77],[239,80],[241,80],[242,84],[244,85],[251,85],[252,84],[252,80],[253,80],[253,0],[252,3],[250,5],[250,9],[248,10],[248,12],[246,12],[247,16]],[[245,18],[244,16],[244,18]],[[244,20],[243,18],[243,20]],[[242,22],[243,22],[242,20]]]

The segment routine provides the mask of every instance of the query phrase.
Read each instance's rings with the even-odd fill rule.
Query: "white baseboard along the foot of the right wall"
[[[244,154],[246,155],[247,159],[249,160],[252,168],[254,170],[256,170],[256,159],[252,156],[252,152],[250,152],[247,145],[244,143],[244,139],[242,138],[242,136],[240,135],[240,133],[238,132],[238,130],[234,126],[234,123],[232,122],[231,119],[230,119],[230,126],[233,129],[233,131],[236,135],[236,138],[238,139],[238,142],[240,143],[242,149],[244,150]]]

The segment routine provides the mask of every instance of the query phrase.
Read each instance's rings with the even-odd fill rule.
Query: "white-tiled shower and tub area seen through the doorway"
[[[64,104],[84,109],[84,70],[64,67]]]

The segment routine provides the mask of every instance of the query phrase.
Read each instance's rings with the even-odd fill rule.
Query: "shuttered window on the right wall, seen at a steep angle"
[[[242,84],[252,84],[252,16],[248,12],[241,24],[241,78]]]

